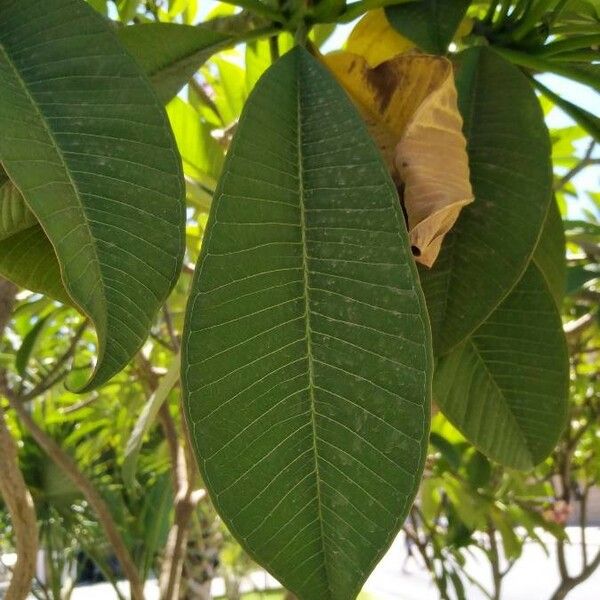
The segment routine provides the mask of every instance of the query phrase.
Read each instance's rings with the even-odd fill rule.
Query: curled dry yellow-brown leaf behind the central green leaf
[[[425,54],[375,68],[349,52],[323,60],[354,99],[402,190],[413,253],[430,267],[461,208],[473,201],[452,64]]]

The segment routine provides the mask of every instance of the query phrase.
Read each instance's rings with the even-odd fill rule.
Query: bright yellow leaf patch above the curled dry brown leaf
[[[364,57],[371,67],[414,47],[390,25],[383,8],[366,13],[346,42],[348,52]]]

